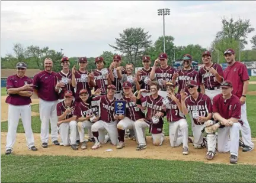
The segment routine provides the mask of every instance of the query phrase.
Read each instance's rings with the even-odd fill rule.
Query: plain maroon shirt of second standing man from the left
[[[55,91],[56,81],[56,73],[53,71],[48,73],[44,70],[34,76],[34,89],[37,90],[40,99],[46,101],[59,99],[59,94]]]

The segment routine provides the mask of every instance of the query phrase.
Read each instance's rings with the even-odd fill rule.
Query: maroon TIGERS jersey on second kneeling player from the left
[[[76,119],[80,117],[87,117],[87,115],[95,115],[99,116],[99,107],[98,106],[90,106],[88,103],[79,102],[76,103],[74,116],[76,116]]]

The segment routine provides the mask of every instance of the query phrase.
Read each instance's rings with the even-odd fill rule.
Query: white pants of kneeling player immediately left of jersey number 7
[[[136,136],[137,136],[137,142],[141,145],[146,145],[145,140],[145,130],[146,128],[149,128],[149,124],[146,123],[143,119],[136,120],[135,122],[135,130],[136,130]],[[153,139],[153,145],[161,146],[162,142],[164,141],[164,134],[158,133],[158,134],[152,134]]]

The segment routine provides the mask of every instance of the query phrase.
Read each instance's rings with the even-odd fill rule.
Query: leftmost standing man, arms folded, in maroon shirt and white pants
[[[8,96],[5,100],[8,106],[8,133],[7,144],[5,146],[6,155],[13,152],[13,146],[16,140],[16,131],[21,116],[28,150],[37,151],[34,146],[34,136],[31,128],[31,99],[33,95],[32,80],[25,76],[27,65],[24,62],[16,64],[17,74],[7,78]]]

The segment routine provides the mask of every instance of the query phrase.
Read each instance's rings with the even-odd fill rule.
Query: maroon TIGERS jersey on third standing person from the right
[[[189,94],[186,87],[187,81],[194,80],[198,83],[198,85],[200,85],[198,73],[193,68],[191,68],[190,70],[184,70],[184,68],[182,68],[181,70],[178,70],[177,73],[178,77],[176,79],[176,82],[178,83],[178,93],[180,93],[181,90],[185,89],[185,92]]]

